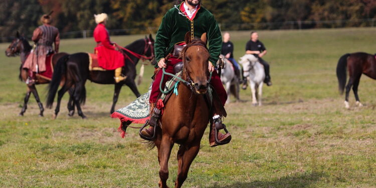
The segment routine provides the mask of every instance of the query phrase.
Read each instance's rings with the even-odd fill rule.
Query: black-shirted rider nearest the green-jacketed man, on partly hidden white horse
[[[234,66],[234,72],[236,77],[238,77],[239,82],[240,79],[240,66],[238,62],[234,59],[234,44],[230,41],[230,34],[228,32],[225,32],[223,34],[223,40],[222,40],[222,51],[221,54],[225,56],[226,59],[228,59]]]

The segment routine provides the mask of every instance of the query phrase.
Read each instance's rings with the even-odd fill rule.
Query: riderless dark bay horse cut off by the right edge
[[[346,85],[346,69],[348,70],[349,79]],[[337,78],[339,92],[343,94],[343,90],[346,85],[346,95],[345,95],[345,107],[350,108],[348,104],[348,94],[352,87],[354,92],[356,105],[363,106],[360,103],[358,96],[358,86],[360,77],[362,74],[376,79],[376,59],[374,55],[367,54],[364,52],[357,52],[352,54],[345,54],[341,56],[337,64]]]

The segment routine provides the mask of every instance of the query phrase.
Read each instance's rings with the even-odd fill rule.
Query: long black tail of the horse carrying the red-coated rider
[[[52,104],[54,103],[56,92],[59,88],[61,79],[66,72],[67,69],[67,61],[69,59],[69,55],[65,55],[61,57],[56,66],[54,67],[54,74],[52,76],[52,80],[48,86],[48,94],[47,94],[47,108],[51,108]]]

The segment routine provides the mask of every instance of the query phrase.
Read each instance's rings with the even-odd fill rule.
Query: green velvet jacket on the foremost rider
[[[168,10],[162,19],[155,37],[155,60],[159,62],[160,59],[166,57],[173,50],[173,46],[176,43],[183,42],[186,32],[191,31],[191,22],[193,22],[195,37],[200,38],[203,33],[207,33],[210,53],[209,61],[216,65],[222,50],[221,30],[217,21],[212,13],[200,7],[200,5],[198,7],[199,10],[191,21],[179,14],[179,12],[182,14],[183,3]]]

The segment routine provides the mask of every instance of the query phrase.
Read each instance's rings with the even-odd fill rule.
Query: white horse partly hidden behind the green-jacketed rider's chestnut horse
[[[221,55],[220,58],[222,59],[224,66],[221,72],[221,81],[222,84],[225,85],[226,92],[227,92],[227,101],[226,103],[230,102],[230,94],[232,93],[237,101],[239,101],[239,82],[237,81],[237,77],[235,75],[233,64],[230,60],[226,59],[225,56]]]

